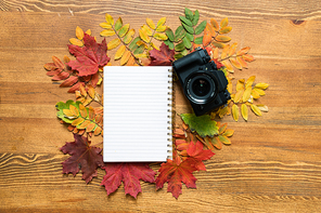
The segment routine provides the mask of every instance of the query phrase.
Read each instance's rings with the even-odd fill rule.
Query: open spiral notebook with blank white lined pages
[[[104,67],[105,162],[171,158],[171,67]]]

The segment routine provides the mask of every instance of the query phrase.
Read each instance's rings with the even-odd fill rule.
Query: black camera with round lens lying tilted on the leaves
[[[231,98],[224,72],[217,69],[206,50],[196,49],[179,58],[172,63],[172,69],[196,116],[218,108]]]

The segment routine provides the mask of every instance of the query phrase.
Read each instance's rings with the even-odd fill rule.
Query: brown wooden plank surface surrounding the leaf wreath
[[[176,200],[166,187],[142,183],[133,199],[123,186],[110,197],[104,172],[86,185],[63,175],[59,148],[73,135],[54,105],[74,98],[51,82],[43,65],[68,54],[76,26],[99,38],[104,13],[138,29],[151,17],[178,26],[183,8],[202,18],[228,16],[231,37],[252,46],[256,62],[235,78],[270,83],[260,102],[270,111],[249,115],[232,146],[216,151],[197,172],[197,189]],[[320,1],[0,1],[0,212],[321,212],[321,9]],[[180,91],[177,112],[189,111]],[[100,142],[97,139],[97,142]],[[153,167],[157,170],[158,167]]]

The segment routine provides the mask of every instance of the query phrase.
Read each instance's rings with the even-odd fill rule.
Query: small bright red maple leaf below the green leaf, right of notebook
[[[203,150],[202,142],[197,141],[196,144],[193,142],[190,143],[188,155],[190,156],[188,159],[191,161],[193,160],[191,163],[194,164],[197,170],[206,171],[202,161],[210,159],[215,154],[209,149]]]

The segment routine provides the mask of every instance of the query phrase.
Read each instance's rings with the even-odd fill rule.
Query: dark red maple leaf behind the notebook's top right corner
[[[175,61],[175,50],[169,50],[168,45],[162,43],[159,51],[153,49],[150,51],[151,64],[150,66],[170,66]]]

